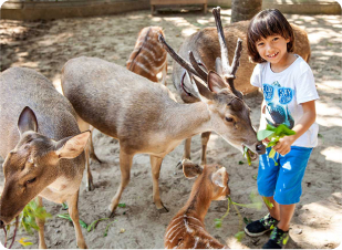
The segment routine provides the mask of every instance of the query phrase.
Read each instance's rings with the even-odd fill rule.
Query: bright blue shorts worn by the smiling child
[[[281,205],[297,204],[302,194],[301,183],[312,148],[292,146],[289,154],[276,153],[274,160],[266,154],[259,156],[258,191],[260,196],[273,197]]]

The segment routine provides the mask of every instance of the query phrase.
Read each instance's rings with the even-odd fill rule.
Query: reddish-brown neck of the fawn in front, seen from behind
[[[211,204],[211,190],[209,189],[210,187],[204,185],[203,181],[197,181],[193,187],[188,201],[182,209],[183,213],[191,215],[204,222]]]

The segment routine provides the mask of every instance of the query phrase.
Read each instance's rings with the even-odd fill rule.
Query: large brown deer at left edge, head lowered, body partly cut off
[[[12,67],[0,75],[0,156],[4,188],[0,227],[10,223],[38,196],[66,201],[79,248],[86,248],[79,222],[82,153],[90,132],[80,134],[70,102],[40,73]],[[37,219],[39,248],[46,248],[44,220]]]

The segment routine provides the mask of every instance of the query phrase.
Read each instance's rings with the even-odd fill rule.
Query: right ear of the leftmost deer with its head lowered
[[[83,132],[75,136],[70,136],[56,143],[55,154],[59,158],[75,158],[86,146],[87,139],[91,135],[90,131]]]

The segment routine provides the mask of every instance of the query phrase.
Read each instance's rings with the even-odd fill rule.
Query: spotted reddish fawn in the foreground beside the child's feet
[[[205,217],[211,200],[225,200],[230,195],[229,175],[218,165],[200,167],[183,160],[186,178],[197,177],[186,205],[169,222],[164,237],[167,249],[219,249],[227,248],[210,236],[205,228]]]

